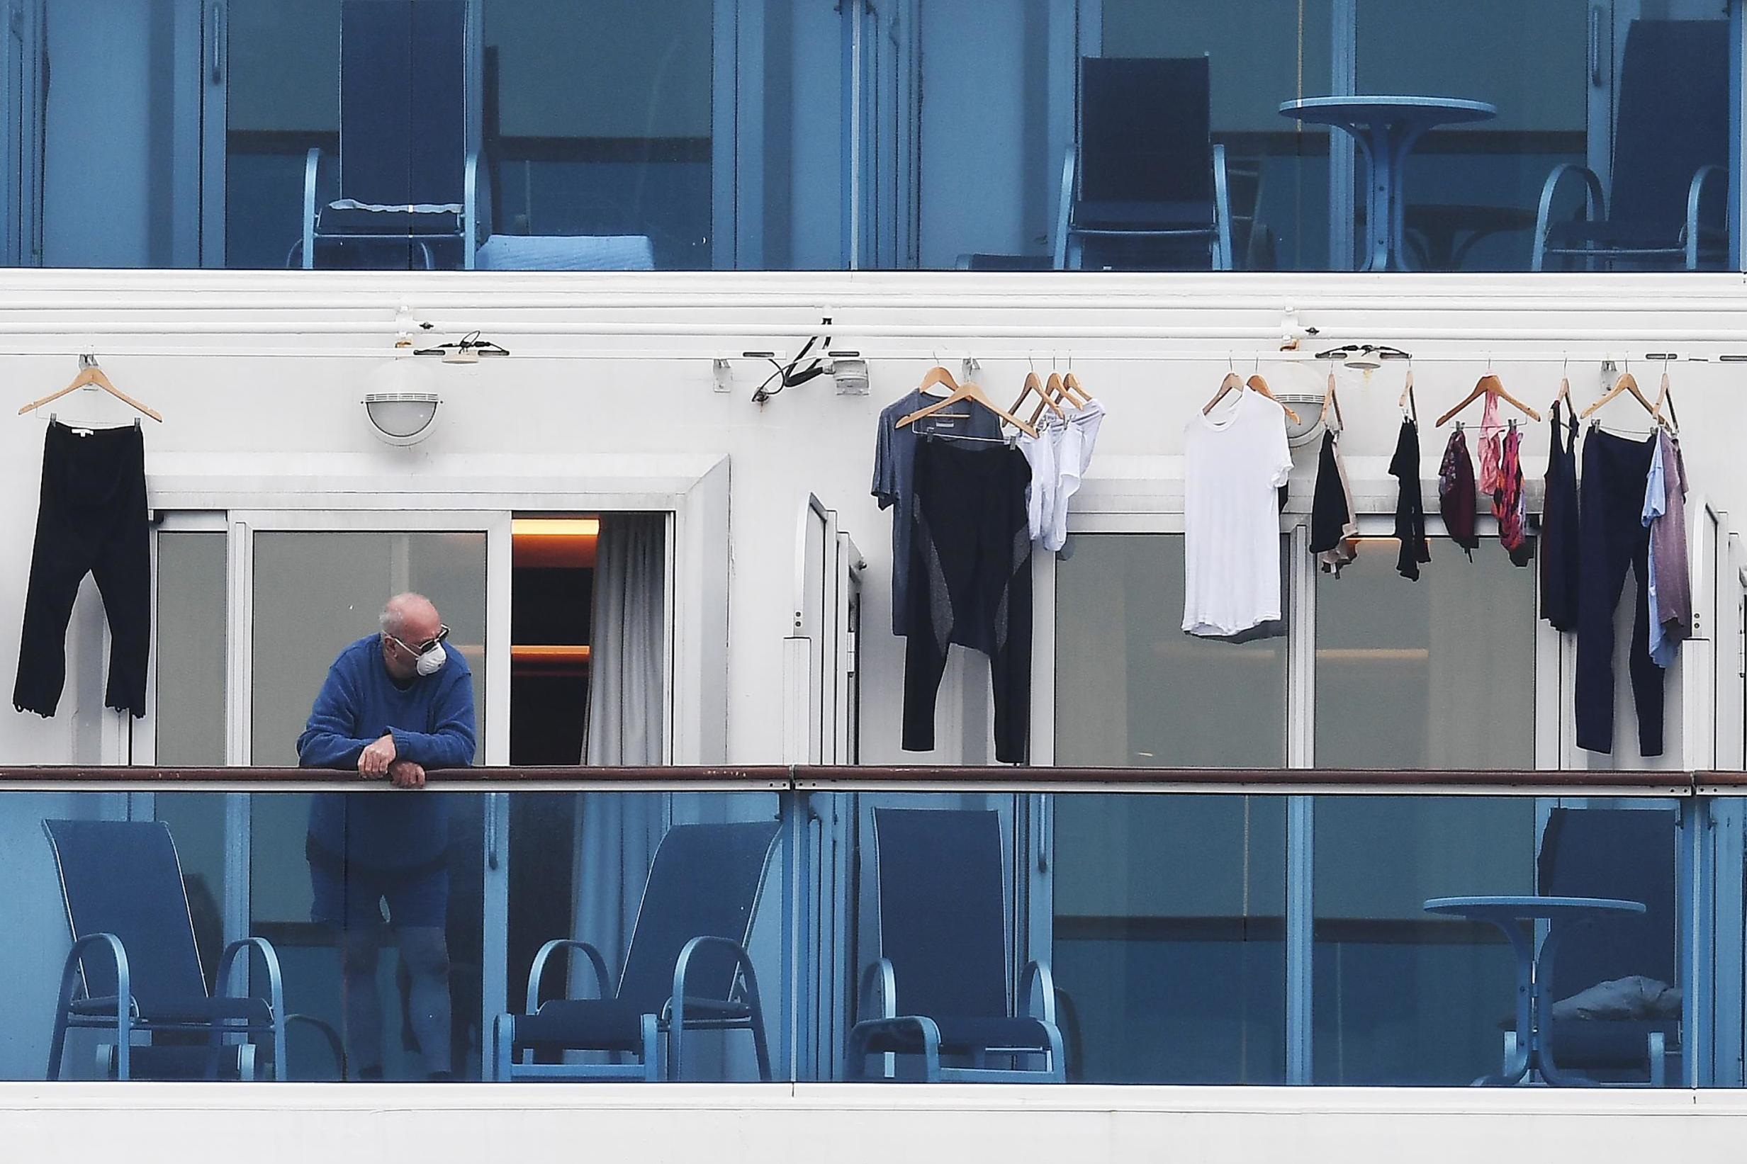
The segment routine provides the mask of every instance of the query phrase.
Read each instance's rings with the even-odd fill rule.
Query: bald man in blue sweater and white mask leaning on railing
[[[430,599],[402,593],[383,630],[339,653],[297,738],[304,768],[386,775],[423,789],[426,768],[473,763],[473,677],[444,649],[449,628]],[[412,1031],[426,1075],[449,1063],[447,798],[437,792],[318,792],[309,806],[311,916],[339,930],[348,1061],[355,1078],[383,1078],[383,1003],[376,963],[386,923],[411,977]]]

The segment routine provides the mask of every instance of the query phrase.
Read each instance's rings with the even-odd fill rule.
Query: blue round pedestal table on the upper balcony
[[[1420,134],[1433,126],[1488,120],[1499,106],[1462,98],[1303,98],[1281,101],[1281,113],[1307,126],[1333,126],[1352,134],[1371,166],[1364,197],[1363,270],[1406,270],[1401,239],[1401,169]]]

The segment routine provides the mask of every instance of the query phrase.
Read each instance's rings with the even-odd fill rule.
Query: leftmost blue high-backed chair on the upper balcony
[[[344,0],[339,166],[304,157],[304,269],[473,267],[466,0]],[[332,197],[323,197],[328,190]],[[393,258],[384,258],[393,257]]]

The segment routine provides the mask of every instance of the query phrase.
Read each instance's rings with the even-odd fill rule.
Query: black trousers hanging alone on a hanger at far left
[[[12,705],[52,716],[66,684],[66,623],[91,574],[110,625],[103,702],[145,716],[152,640],[152,560],[145,513],[145,442],[138,428],[89,435],[51,422],[42,448],[37,548],[24,592],[24,633]]]

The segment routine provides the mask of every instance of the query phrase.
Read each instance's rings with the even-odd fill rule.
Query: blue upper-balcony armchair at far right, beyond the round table
[[[1530,270],[1698,270],[1728,257],[1728,21],[1632,21],[1619,66],[1611,197],[1593,169],[1565,162],[1541,187]],[[1585,216],[1553,222],[1553,194],[1576,175]],[[1710,194],[1707,199],[1705,194]]]

